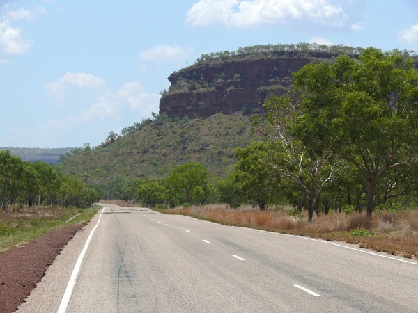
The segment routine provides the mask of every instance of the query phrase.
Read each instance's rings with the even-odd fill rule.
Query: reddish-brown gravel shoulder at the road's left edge
[[[26,246],[0,253],[0,312],[15,312],[82,225],[54,230]]]

